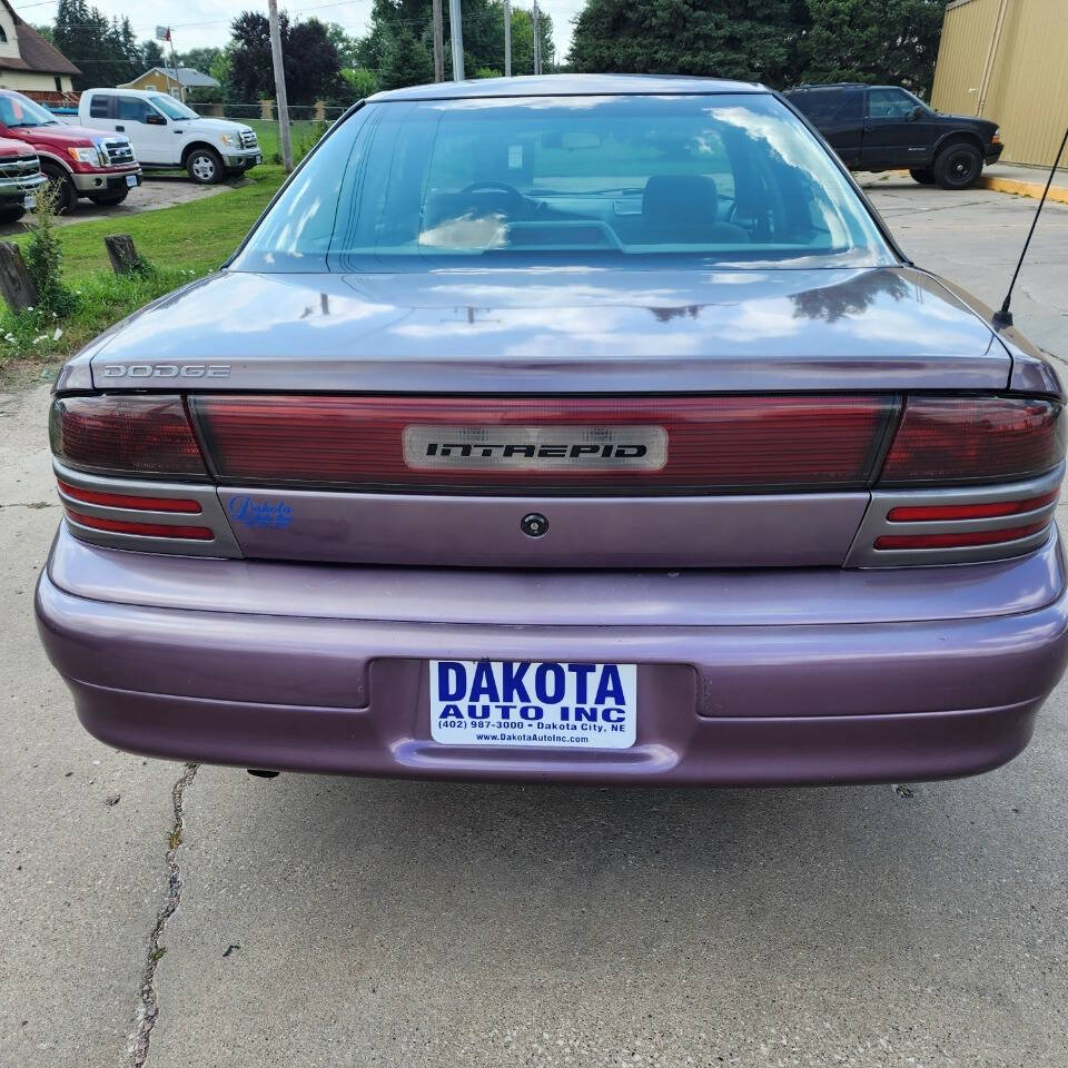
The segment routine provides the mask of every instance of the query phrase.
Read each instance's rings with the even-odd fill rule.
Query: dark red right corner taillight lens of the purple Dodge
[[[1061,406],[1030,397],[909,397],[880,486],[1027,478],[1065,456]]]

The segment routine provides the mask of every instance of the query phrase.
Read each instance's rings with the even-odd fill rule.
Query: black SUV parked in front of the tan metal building
[[[907,169],[921,185],[967,189],[1003,148],[997,122],[934,111],[900,86],[801,86],[784,96],[851,170]]]

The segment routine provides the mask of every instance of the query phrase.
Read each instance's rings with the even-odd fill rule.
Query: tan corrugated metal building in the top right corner
[[[1002,161],[1049,167],[1068,127],[1068,0],[953,0],[931,102],[1000,123]]]

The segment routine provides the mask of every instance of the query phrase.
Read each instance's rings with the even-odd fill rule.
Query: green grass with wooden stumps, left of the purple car
[[[239,187],[214,197],[61,227],[62,276],[75,295],[73,312],[63,318],[41,308],[16,315],[0,304],[0,377],[47,377],[57,360],[66,359],[112,323],[215,270],[248,233],[283,178],[280,167],[265,165]],[[151,269],[116,277],[103,245],[110,234],[129,234]],[[13,240],[23,245],[29,237],[27,233]]]

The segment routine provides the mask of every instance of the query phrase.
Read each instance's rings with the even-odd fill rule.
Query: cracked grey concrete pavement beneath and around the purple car
[[[873,188],[999,298],[1032,204]],[[1019,323],[1066,354],[1068,209],[1036,253]],[[154,1068],[1065,1064],[1068,689],[1008,768],[899,789],[190,778],[86,735],[38,649],[44,403],[0,398],[0,1065],[126,1062],[178,783]]]

